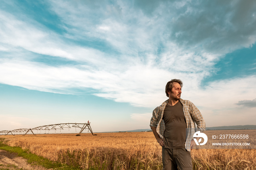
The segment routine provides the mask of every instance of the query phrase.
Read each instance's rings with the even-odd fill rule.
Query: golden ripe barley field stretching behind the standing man
[[[205,132],[217,133],[216,131]],[[246,130],[245,132],[251,133],[252,146],[256,142],[256,136],[254,136],[256,131]],[[75,134],[1,135],[0,138],[5,138],[4,143],[9,146],[19,146],[52,161],[67,163],[80,169],[162,169],[161,147],[156,142],[153,132],[99,133],[97,136],[91,134],[81,136],[75,136]],[[208,142],[211,140],[208,139]],[[194,170],[256,169],[256,149],[193,149],[191,157]]]

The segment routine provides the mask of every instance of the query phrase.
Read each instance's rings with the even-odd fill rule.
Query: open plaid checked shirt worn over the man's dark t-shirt
[[[163,139],[163,133],[165,132],[165,123],[163,121],[163,111],[165,110],[165,106],[167,105],[169,99],[162,103],[159,107],[155,108],[153,111],[153,116],[150,120],[150,126],[157,128],[157,133],[160,138]],[[203,116],[200,111],[196,108],[196,106],[188,100],[180,99],[180,103],[183,106],[183,112],[187,124],[187,137],[185,141],[185,148],[187,151],[190,151],[190,143],[193,138],[193,135],[196,131],[203,132],[205,131],[205,122]],[[195,131],[195,123],[197,124],[197,128]]]

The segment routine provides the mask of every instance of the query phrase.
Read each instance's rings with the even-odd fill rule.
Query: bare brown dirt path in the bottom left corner
[[[15,153],[10,153],[4,150],[0,150],[0,170],[46,170],[44,167],[30,165],[27,160],[18,157]]]

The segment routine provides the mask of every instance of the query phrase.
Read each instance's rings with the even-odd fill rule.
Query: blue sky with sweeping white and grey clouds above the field
[[[0,1],[0,130],[150,128],[166,82],[207,127],[255,124],[254,1]]]

